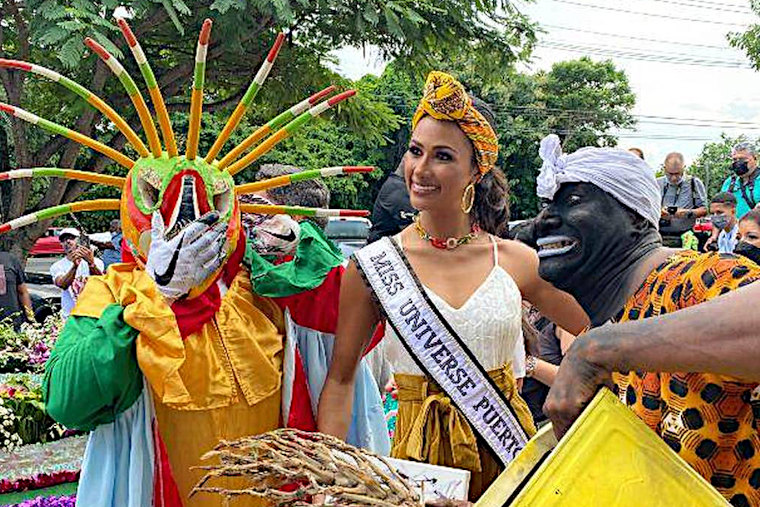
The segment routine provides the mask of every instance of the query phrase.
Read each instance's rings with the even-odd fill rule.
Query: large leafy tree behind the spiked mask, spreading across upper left
[[[350,85],[327,66],[330,52],[341,46],[373,45],[384,57],[403,56],[410,65],[472,46],[488,51],[482,54],[483,64],[495,67],[526,55],[534,40],[530,23],[501,0],[0,0],[0,55],[62,71],[87,85],[134,126],[136,115],[128,113],[132,108],[126,94],[82,44],[84,36],[93,37],[139,77],[111,21],[117,9],[133,20],[132,28],[173,114],[180,146],[186,134],[180,113],[189,108],[195,40],[205,17],[213,18],[214,29],[204,111],[219,113],[221,118],[242,97],[276,32],[287,34],[278,64],[242,128],[260,124],[296,97],[308,96],[330,82]],[[7,69],[0,69],[0,84],[0,99],[134,155],[124,148],[123,137],[66,90]],[[341,131],[341,136],[350,132],[375,145],[390,140],[388,133],[399,121],[384,101],[364,94],[336,114],[349,129]],[[0,127],[7,132],[7,140],[0,138],[0,168],[57,166],[103,172],[109,167],[104,157],[16,119],[2,118]],[[34,185],[15,181],[0,188],[3,221],[71,202],[89,188],[51,180],[35,193]],[[23,256],[48,225],[40,223],[9,234],[0,239],[0,246]]]

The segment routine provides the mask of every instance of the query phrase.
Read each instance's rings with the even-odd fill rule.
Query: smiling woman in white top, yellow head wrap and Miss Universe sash
[[[317,413],[319,431],[345,438],[356,367],[385,317],[398,385],[391,455],[469,470],[470,499],[535,431],[511,365],[523,299],[571,332],[588,323],[576,301],[538,276],[535,251],[498,239],[509,197],[495,125],[461,83],[430,73],[404,155],[419,214],[352,257]]]

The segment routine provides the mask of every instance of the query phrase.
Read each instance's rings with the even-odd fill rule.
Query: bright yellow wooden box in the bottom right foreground
[[[553,450],[552,450],[553,449]],[[609,390],[557,444],[543,427],[476,507],[728,505]]]

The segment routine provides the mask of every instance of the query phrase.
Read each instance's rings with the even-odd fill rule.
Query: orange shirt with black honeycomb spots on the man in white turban
[[[760,279],[732,254],[683,251],[655,269],[616,317],[640,320]],[[758,343],[760,346],[760,343]],[[615,375],[620,399],[735,506],[760,506],[760,389],[707,373]]]

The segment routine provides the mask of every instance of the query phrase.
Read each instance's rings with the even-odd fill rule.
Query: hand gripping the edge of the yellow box
[[[544,404],[544,413],[552,421],[554,433],[561,438],[581,415],[600,386],[612,385],[611,372],[590,358],[595,332],[576,339],[567,351]]]

